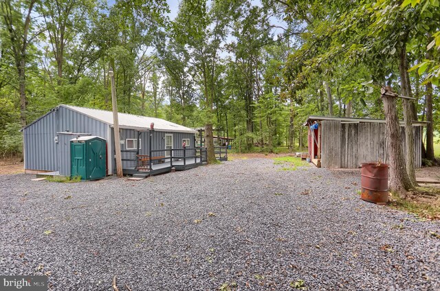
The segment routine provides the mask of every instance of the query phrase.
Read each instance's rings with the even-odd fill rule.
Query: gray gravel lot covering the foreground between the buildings
[[[359,199],[358,171],[271,159],[142,181],[0,176],[0,275],[53,290],[440,290],[439,222]]]

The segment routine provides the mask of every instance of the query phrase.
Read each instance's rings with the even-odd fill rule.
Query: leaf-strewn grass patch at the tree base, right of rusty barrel
[[[406,199],[393,195],[391,206],[395,209],[413,213],[419,218],[440,219],[440,189],[418,187]]]

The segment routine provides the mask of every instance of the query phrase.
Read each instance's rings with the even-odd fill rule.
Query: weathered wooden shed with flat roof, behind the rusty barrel
[[[309,155],[315,165],[354,169],[370,161],[388,163],[385,119],[309,116],[304,126],[309,128]],[[415,167],[421,167],[423,126],[426,122],[412,122]],[[403,121],[400,121],[400,128],[406,152]]]

